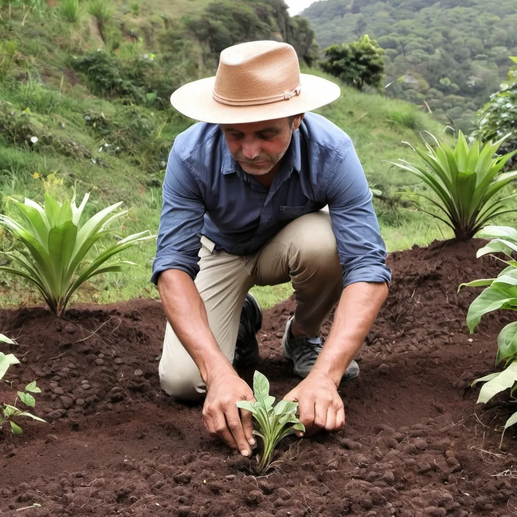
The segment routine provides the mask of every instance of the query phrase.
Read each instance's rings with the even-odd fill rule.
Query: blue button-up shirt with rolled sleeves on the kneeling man
[[[326,118],[306,113],[269,189],[233,159],[221,128],[197,123],[179,134],[163,182],[151,281],[166,269],[193,279],[200,236],[234,255],[258,251],[293,219],[328,205],[343,285],[390,281],[386,247],[354,145]]]

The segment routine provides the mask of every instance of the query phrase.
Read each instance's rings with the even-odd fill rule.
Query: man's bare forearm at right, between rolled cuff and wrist
[[[385,283],[358,282],[343,290],[334,322],[311,373],[332,379],[336,386],[359,351],[388,294]]]

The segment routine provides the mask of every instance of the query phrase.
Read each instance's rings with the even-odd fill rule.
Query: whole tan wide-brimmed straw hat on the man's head
[[[181,86],[171,103],[195,120],[242,124],[305,113],[339,96],[337,84],[300,73],[291,45],[250,41],[223,50],[216,77]]]

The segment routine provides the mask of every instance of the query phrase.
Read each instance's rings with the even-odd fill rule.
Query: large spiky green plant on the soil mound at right
[[[426,153],[405,143],[418,153],[429,169],[402,159],[399,159],[400,163],[388,162],[423,180],[438,200],[419,192],[405,193],[423,197],[438,208],[442,215],[439,216],[417,205],[419,209],[450,226],[454,236],[462,240],[472,238],[494,217],[516,211],[506,209],[504,201],[517,194],[495,199],[495,195],[503,187],[517,178],[517,171],[500,172],[517,150],[494,157],[510,134],[493,144],[488,142],[483,146],[479,140],[475,140],[469,148],[464,134],[460,131],[458,142],[452,149],[447,144],[438,142],[431,133],[427,133],[435,145],[431,146],[422,136],[427,148]]]

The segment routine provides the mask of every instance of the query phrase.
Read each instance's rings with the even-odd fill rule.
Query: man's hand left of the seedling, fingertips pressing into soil
[[[235,405],[240,400],[255,402],[251,388],[235,373],[226,370],[207,382],[203,421],[212,438],[219,437],[243,456],[251,456],[252,415]]]

